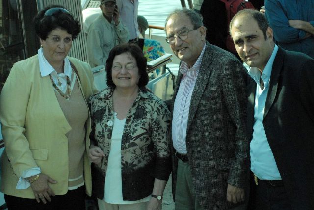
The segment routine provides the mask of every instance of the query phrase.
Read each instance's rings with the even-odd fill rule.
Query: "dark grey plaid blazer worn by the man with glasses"
[[[181,79],[179,72],[171,113]],[[247,184],[246,103],[246,72],[242,63],[231,53],[207,42],[191,97],[186,131],[192,180],[204,210],[235,206],[227,201],[227,183],[241,188]],[[172,160],[175,195],[178,159],[172,155]]]

